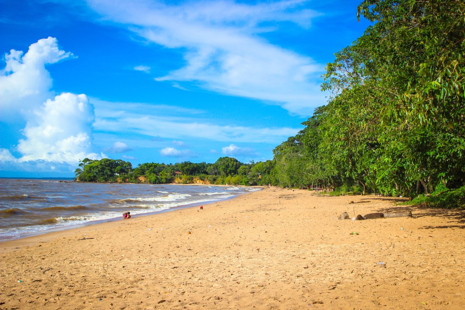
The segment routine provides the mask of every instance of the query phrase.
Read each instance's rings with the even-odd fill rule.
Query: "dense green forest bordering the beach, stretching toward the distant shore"
[[[147,163],[133,176],[165,182],[174,169],[213,183],[329,184],[409,196],[464,186],[465,2],[366,0],[360,16],[372,26],[327,64],[327,105],[277,146],[272,160]]]

